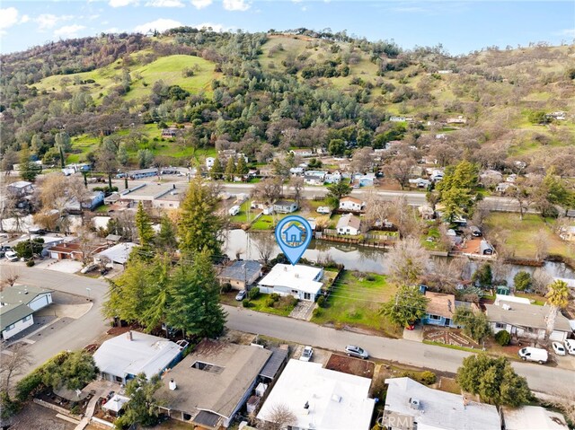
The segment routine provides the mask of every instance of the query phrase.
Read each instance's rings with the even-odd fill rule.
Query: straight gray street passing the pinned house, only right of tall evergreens
[[[314,347],[341,351],[348,344],[365,347],[370,355],[385,360],[442,372],[456,373],[470,353],[422,344],[411,340],[380,338],[329,329],[311,322],[292,320],[243,308],[225,306],[230,329],[280,338]],[[533,391],[559,394],[571,390],[575,373],[570,370],[531,363],[513,363],[518,374],[527,378]]]

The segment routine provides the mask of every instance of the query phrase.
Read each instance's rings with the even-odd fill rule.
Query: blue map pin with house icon
[[[296,266],[312,241],[312,226],[301,216],[286,216],[276,227],[276,241],[292,266]]]

